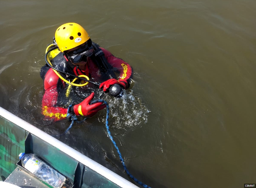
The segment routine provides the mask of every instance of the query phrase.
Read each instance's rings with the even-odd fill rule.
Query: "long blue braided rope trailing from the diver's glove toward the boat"
[[[133,175],[131,175],[131,173],[128,171],[128,169],[127,169],[127,167],[126,167],[126,165],[125,165],[125,163],[124,163],[124,159],[123,159],[123,157],[122,157],[122,155],[121,155],[121,153],[120,153],[120,151],[119,151],[119,149],[118,149],[118,147],[117,147],[117,144],[116,144],[116,142],[114,141],[114,139],[113,139],[113,137],[112,137],[112,135],[111,135],[111,133],[110,133],[110,130],[109,130],[109,105],[108,105],[108,103],[107,103],[106,101],[101,100],[101,99],[99,99],[99,100],[94,100],[94,101],[91,102],[91,104],[94,104],[94,103],[96,103],[96,102],[103,102],[103,103],[105,103],[106,106],[107,106],[107,116],[106,116],[106,128],[107,128],[107,132],[108,132],[108,135],[109,135],[110,140],[112,141],[112,143],[114,144],[114,146],[115,146],[115,148],[116,148],[116,150],[117,150],[117,153],[118,153],[118,155],[119,155],[120,161],[121,161],[121,163],[122,163],[122,165],[123,165],[123,167],[124,167],[125,172],[130,176],[130,178],[132,178],[132,179],[133,179],[136,183],[138,183],[139,185],[141,185],[141,186],[143,186],[143,187],[145,187],[145,188],[151,188],[151,187],[149,187],[148,185],[146,185],[146,184],[140,182],[140,181],[139,181],[138,179],[136,179]]]

